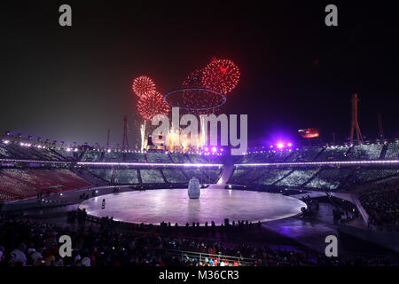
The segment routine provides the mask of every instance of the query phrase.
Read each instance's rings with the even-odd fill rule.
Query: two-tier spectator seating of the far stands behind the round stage
[[[75,150],[78,149],[78,150]],[[83,147],[85,149],[85,147]],[[399,152],[399,143],[364,144],[355,146],[328,146],[305,147],[301,149],[284,149],[257,151],[241,157],[235,157],[234,162],[246,163],[280,163],[280,162],[345,162],[367,161],[385,158],[395,159]],[[83,151],[79,146],[75,148],[59,148],[46,146],[22,146],[17,142],[0,143],[0,158],[19,160],[43,160],[43,161],[74,161],[80,158],[81,162],[141,162],[141,163],[200,163],[222,164],[223,156],[218,154],[183,154],[153,152],[102,152],[96,149]],[[229,161],[229,160],[226,160]],[[233,161],[233,159],[231,159]],[[354,185],[361,185],[387,177],[399,176],[398,168],[379,165],[379,168],[368,166],[332,166],[321,167],[318,165],[295,166],[236,166],[228,180],[229,185],[248,185],[274,187],[303,187],[312,190],[340,190],[348,189]],[[222,174],[222,167],[179,167],[169,168],[98,168],[90,165],[83,168],[89,170],[91,177],[99,177],[104,182],[113,185],[152,185],[152,184],[185,184],[191,177],[197,177],[201,184],[216,183]],[[87,172],[87,171],[86,171]],[[3,169],[0,174],[4,177],[6,185],[16,184],[15,191],[12,188],[7,192],[3,187],[2,200],[23,198],[32,194],[32,190],[51,191],[67,190],[90,186],[84,175],[79,177],[67,169]],[[86,177],[88,178],[88,177]],[[12,181],[9,181],[11,179]],[[88,179],[90,180],[90,178]],[[92,183],[92,181],[91,181]],[[18,185],[18,186],[17,186]],[[13,194],[15,193],[15,194]]]

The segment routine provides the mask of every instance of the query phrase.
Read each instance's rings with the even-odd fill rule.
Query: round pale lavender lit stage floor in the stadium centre
[[[106,208],[101,203],[106,199]],[[201,189],[198,200],[188,197],[187,189],[157,189],[112,193],[83,201],[79,208],[96,217],[113,217],[130,223],[159,225],[162,221],[175,225],[189,222],[230,222],[248,220],[266,222],[301,213],[305,203],[275,193],[259,193],[218,188]]]

